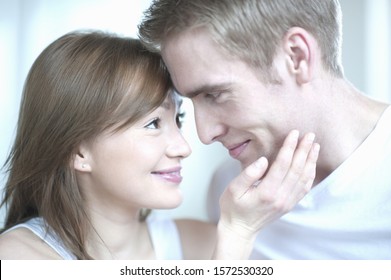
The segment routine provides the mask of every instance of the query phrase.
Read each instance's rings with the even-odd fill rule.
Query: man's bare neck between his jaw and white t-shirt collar
[[[319,106],[316,132],[321,146],[314,185],[338,168],[376,127],[387,104],[360,93],[347,82],[338,82]]]

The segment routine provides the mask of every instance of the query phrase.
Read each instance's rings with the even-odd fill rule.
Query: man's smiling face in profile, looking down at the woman
[[[273,159],[291,124],[286,86],[262,83],[253,68],[227,54],[205,30],[170,38],[163,59],[178,92],[191,98],[204,144],[221,142],[243,166]],[[288,97],[287,97],[288,96]]]

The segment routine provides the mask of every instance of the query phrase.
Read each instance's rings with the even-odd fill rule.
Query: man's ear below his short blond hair
[[[308,83],[313,76],[316,42],[313,36],[300,27],[292,27],[284,36],[283,48],[288,70],[296,76],[298,84]]]

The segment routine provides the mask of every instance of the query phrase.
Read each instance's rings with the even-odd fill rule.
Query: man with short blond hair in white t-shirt
[[[313,187],[253,258],[391,259],[391,109],[344,78],[337,0],[155,1],[140,37],[191,98],[201,141],[242,167],[315,133]]]

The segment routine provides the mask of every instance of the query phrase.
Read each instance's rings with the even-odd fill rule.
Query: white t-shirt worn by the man
[[[251,258],[391,259],[390,171],[391,107],[340,167],[261,231]]]

